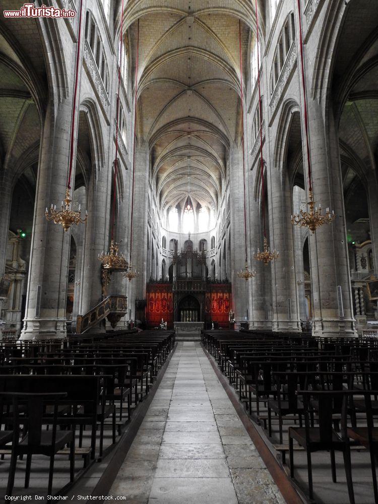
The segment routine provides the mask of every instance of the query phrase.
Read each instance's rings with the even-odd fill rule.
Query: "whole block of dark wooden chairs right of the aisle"
[[[378,427],[374,427],[374,415],[378,414],[377,341],[204,331],[202,343],[237,390],[247,412],[264,425],[271,439],[272,423],[278,420],[279,445],[275,447],[282,453],[283,463],[289,452],[292,477],[294,442],[306,451],[311,499],[311,453],[331,453],[332,479],[336,481],[335,451],[340,450],[349,500],[354,503],[350,447],[356,445],[369,452],[378,504],[374,459],[378,453]],[[289,422],[286,444],[284,420]]]

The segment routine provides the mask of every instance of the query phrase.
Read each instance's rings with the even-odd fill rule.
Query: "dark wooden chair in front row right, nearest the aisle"
[[[347,398],[349,391],[298,391],[298,395],[303,397],[303,427],[289,427],[289,454],[290,454],[290,476],[294,477],[294,445],[295,439],[298,445],[305,449],[307,455],[308,473],[308,493],[310,499],[313,498],[311,453],[318,451],[329,451],[331,454],[332,480],[336,483],[336,463],[335,451],[342,451],[344,456],[345,474],[348,486],[349,501],[354,504],[354,491],[352,482],[350,445],[346,435],[346,414]],[[319,425],[310,427],[309,411],[311,408],[311,397],[317,399],[317,410],[319,414]],[[332,412],[334,410],[335,399],[342,397],[342,426],[344,434],[340,436],[333,428]]]

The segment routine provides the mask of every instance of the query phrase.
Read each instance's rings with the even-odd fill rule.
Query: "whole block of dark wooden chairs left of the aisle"
[[[50,457],[49,494],[57,453],[69,455],[71,481],[75,455],[83,455],[85,466],[89,459],[101,460],[107,419],[114,445],[117,423],[120,433],[148,395],[174,343],[173,331],[146,331],[0,344],[0,449],[2,459],[11,455],[7,494],[23,455],[26,488],[32,456]],[[88,428],[90,447],[83,448]]]

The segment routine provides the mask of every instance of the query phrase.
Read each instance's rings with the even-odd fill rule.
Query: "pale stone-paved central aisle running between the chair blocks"
[[[197,342],[180,342],[109,492],[130,504],[284,500]]]

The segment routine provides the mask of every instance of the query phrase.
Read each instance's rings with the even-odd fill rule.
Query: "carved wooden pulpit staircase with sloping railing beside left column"
[[[76,322],[76,334],[89,331],[105,318],[114,329],[120,319],[128,311],[127,296],[107,296],[96,306],[91,308],[85,315],[78,315]]]

